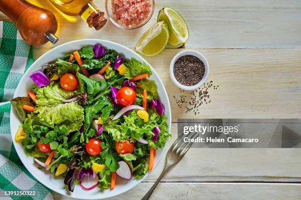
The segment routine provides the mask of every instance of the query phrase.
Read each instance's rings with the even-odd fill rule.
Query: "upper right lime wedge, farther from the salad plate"
[[[157,21],[164,21],[168,25],[169,41],[172,46],[181,46],[189,38],[188,27],[182,16],[170,7],[164,7],[159,11]]]

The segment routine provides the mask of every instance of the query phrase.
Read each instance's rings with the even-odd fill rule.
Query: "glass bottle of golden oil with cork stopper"
[[[66,15],[76,16],[87,22],[89,27],[94,27],[96,30],[102,28],[107,19],[104,17],[104,12],[100,11],[92,0],[49,0],[55,7]]]

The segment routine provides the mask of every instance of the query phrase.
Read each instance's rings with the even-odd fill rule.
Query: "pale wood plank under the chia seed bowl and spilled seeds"
[[[35,48],[34,57],[48,48]],[[200,106],[197,115],[185,112],[189,102],[179,109],[181,92],[169,77],[169,64],[181,49],[164,50],[146,58],[160,76],[169,96],[172,121],[179,118],[301,118],[301,50],[211,50],[203,53],[210,65],[208,81],[219,85],[208,90],[210,103]]]

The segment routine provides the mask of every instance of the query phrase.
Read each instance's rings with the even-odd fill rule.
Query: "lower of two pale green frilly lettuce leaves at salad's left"
[[[76,101],[72,101],[70,103],[38,106],[34,113],[37,113],[41,121],[45,121],[50,125],[60,125],[65,121],[75,122],[83,119],[84,108]]]

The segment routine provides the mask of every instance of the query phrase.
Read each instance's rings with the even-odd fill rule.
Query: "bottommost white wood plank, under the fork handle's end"
[[[141,200],[153,183],[140,183],[107,200]],[[55,200],[75,200],[54,192]],[[150,200],[300,200],[301,184],[159,183]]]

